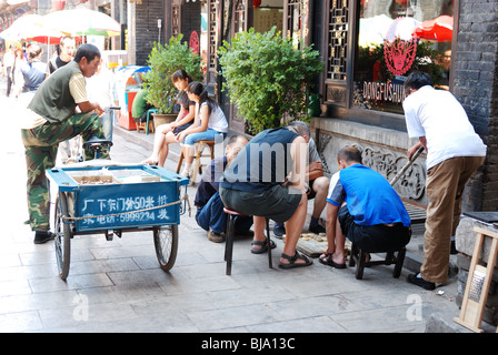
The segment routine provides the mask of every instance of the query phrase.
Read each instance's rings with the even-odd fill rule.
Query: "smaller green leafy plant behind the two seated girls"
[[[148,91],[147,101],[153,104],[159,113],[172,113],[175,97],[178,93],[171,75],[183,69],[195,81],[202,80],[200,55],[192,53],[188,43],[182,43],[183,34],[172,37],[169,43],[153,43],[149,54],[150,71],[145,75],[145,88]]]

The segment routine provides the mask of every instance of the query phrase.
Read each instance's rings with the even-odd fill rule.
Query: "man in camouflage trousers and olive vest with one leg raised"
[[[83,142],[92,136],[103,139],[100,114],[102,108],[88,101],[84,78],[97,71],[100,51],[92,44],[82,44],[72,62],[56,71],[38,89],[28,105],[21,136],[28,169],[28,210],[34,243],[53,239],[50,230],[50,196],[46,170],[56,162],[60,142],[78,134]],[[81,113],[74,113],[79,108]],[[101,158],[108,158],[103,151]],[[91,151],[84,151],[92,159]]]

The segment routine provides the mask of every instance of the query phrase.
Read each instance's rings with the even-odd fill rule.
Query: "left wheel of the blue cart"
[[[71,225],[64,223],[62,216],[68,215],[68,197],[63,192],[56,200],[56,256],[59,267],[59,276],[66,280],[71,262]]]

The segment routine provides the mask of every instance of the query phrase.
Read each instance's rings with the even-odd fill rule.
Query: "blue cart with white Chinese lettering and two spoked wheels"
[[[189,180],[150,165],[53,168],[47,171],[58,186],[54,212],[59,275],[69,274],[73,235],[152,231],[156,254],[169,271],[178,252],[178,224],[187,206]],[[180,197],[181,186],[185,194]]]

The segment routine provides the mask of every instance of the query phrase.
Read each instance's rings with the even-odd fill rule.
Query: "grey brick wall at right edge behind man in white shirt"
[[[498,0],[460,0],[454,93],[488,145],[464,210],[498,211]]]

